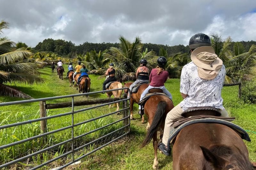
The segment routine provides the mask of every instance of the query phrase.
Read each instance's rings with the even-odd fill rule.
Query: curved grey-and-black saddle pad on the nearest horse
[[[240,134],[242,139],[251,142],[251,139],[250,139],[249,135],[247,134],[247,132],[243,128],[241,128],[240,126],[238,126],[236,124],[233,124],[226,120],[221,120],[221,119],[216,119],[216,118],[202,118],[202,119],[193,119],[188,122],[185,122],[184,124],[181,124],[177,128],[172,128],[172,130],[170,131],[170,134],[169,134],[168,147],[170,147],[170,143],[172,143],[172,141],[176,138],[176,136],[179,134],[179,132],[182,128],[184,128],[190,124],[196,124],[196,123],[215,123],[215,124],[226,125],[226,126],[232,128],[233,130],[235,130],[238,134]]]

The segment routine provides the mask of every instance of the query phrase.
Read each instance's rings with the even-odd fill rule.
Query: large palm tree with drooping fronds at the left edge
[[[8,29],[9,23],[2,20],[0,22],[0,34],[3,29]],[[33,84],[44,82],[39,78],[38,68],[44,67],[41,64],[32,63],[33,59],[28,58],[32,53],[23,48],[13,51],[16,44],[7,37],[0,38],[0,95],[11,97],[22,97],[30,99],[31,96],[14,89],[6,83],[28,83]]]

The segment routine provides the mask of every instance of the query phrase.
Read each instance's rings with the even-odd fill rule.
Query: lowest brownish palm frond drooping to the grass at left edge
[[[14,89],[10,86],[0,84],[0,95],[1,96],[10,96],[10,97],[19,97],[23,99],[33,99],[33,97],[26,95],[25,93]]]

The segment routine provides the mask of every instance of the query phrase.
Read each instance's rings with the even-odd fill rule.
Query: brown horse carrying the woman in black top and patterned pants
[[[124,87],[128,87],[129,88],[131,86],[131,84],[132,84],[132,82],[124,83]],[[140,85],[137,93],[132,93],[132,95],[130,96],[130,102],[131,102],[131,106],[130,106],[130,112],[131,112],[130,119],[131,120],[133,119],[133,112],[132,112],[133,104],[134,104],[134,102],[137,103],[137,104],[140,102],[140,96],[143,93],[143,91],[145,89],[147,89],[148,85],[149,84],[147,84],[147,83]],[[128,89],[124,89],[124,93],[128,93]],[[141,122],[144,123],[144,116],[143,115],[142,115]]]

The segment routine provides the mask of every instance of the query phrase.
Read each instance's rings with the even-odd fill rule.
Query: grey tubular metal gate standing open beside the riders
[[[51,163],[59,161],[60,166],[56,169],[62,169],[130,132],[127,95],[123,98],[75,100],[82,95],[85,94],[0,103],[0,168],[37,169],[46,165],[47,168],[56,168]],[[66,105],[53,106],[63,101]],[[36,110],[38,102],[40,111]],[[109,104],[115,103],[120,103],[118,111],[109,108]],[[10,105],[13,110],[3,111]],[[24,108],[26,111],[21,111]],[[119,112],[121,115],[116,114]]]

